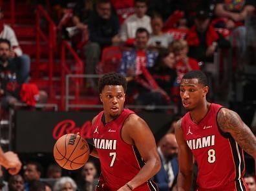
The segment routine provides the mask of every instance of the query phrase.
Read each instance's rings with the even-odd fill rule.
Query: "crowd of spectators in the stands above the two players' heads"
[[[79,1],[69,10],[72,14],[68,25],[82,34],[74,47],[83,58],[85,74],[99,74],[97,68],[99,63],[102,67],[103,50],[118,46],[123,53],[116,71],[127,77],[130,86],[139,89],[130,89],[133,99],[129,100],[142,105],[162,105],[166,104],[166,95],[167,103],[178,103],[175,87],[187,71],[204,70],[211,74],[218,50],[235,46],[241,57],[245,55],[244,20],[255,13],[255,2],[98,0]],[[67,23],[61,27],[66,31],[70,28]],[[142,30],[147,34],[145,37],[140,37]],[[74,37],[69,39],[72,41]],[[82,46],[77,46],[81,41]],[[159,66],[156,59],[162,52],[173,60],[164,73],[164,65]],[[149,75],[145,76],[139,65],[144,65]],[[150,79],[154,79],[155,87]],[[95,86],[93,81],[90,84]]]

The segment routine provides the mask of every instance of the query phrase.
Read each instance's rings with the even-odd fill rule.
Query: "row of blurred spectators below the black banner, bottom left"
[[[50,164],[43,168],[38,161],[28,161],[23,165],[23,170],[15,176],[3,176],[3,171],[0,170],[0,189],[5,191],[92,191],[98,184],[98,172],[94,161],[87,161],[82,168],[76,170],[76,174],[70,175],[67,170],[66,173],[63,171],[65,170],[57,164]]]

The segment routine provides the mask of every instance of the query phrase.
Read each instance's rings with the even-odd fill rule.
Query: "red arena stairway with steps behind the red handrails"
[[[0,0],[1,3],[1,0]],[[12,24],[10,6],[11,2],[8,0],[3,0],[2,3],[3,11],[5,14],[5,23]],[[48,103],[57,104],[60,109],[63,110],[63,100],[61,102],[61,41],[57,44],[58,47],[54,50],[54,61],[53,61],[53,78],[52,78],[52,86],[49,85],[49,77],[48,77],[48,45],[47,43],[41,41],[40,49],[41,49],[41,58],[39,62],[36,62],[36,5],[33,5],[32,1],[28,0],[19,0],[14,1],[14,9],[15,9],[15,23],[12,26],[14,31],[16,32],[17,39],[19,41],[19,45],[21,46],[23,53],[27,54],[31,58],[31,67],[30,67],[30,82],[36,83],[39,86],[39,89],[45,90],[48,94]],[[43,19],[40,20],[41,26],[45,25]],[[45,25],[45,30],[47,30],[47,25]],[[44,28],[43,28],[44,30]],[[58,35],[57,35],[58,37]],[[74,67],[74,59],[67,54],[67,65],[70,66],[71,72],[74,72],[76,68]],[[37,72],[39,71],[39,72]],[[74,86],[70,86],[70,90],[72,90]],[[91,94],[91,90],[86,90],[85,85],[81,86],[80,94],[85,96],[81,96],[81,99],[78,101],[73,100],[74,96],[70,96],[70,104],[80,104],[80,105],[90,105],[98,103],[98,96],[88,96]],[[74,91],[73,91],[74,92]]]

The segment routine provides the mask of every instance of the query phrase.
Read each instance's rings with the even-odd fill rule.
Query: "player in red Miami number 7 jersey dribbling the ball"
[[[92,119],[94,148],[101,176],[96,190],[158,190],[151,177],[160,170],[155,138],[145,121],[123,108],[127,83],[120,74],[99,80],[103,111]]]

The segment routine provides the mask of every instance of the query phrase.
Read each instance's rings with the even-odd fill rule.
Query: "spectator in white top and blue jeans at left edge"
[[[28,57],[26,54],[23,54],[14,30],[10,26],[6,25],[2,18],[3,12],[0,8],[0,38],[10,41],[10,57],[12,58],[10,59],[10,62],[14,63],[14,65],[17,65],[17,68],[19,68],[21,72],[21,80],[23,82],[27,82],[30,72],[30,57]]]

